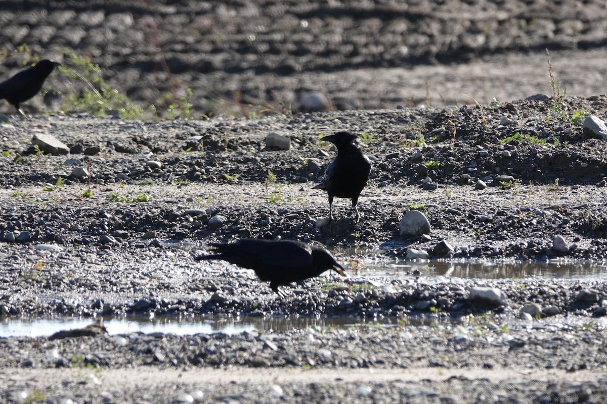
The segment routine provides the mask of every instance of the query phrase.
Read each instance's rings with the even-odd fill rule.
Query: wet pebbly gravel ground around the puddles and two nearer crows
[[[447,261],[605,265],[605,141],[571,117],[581,109],[604,118],[606,105],[603,96],[567,98],[566,121],[549,100],[207,121],[14,118],[0,128],[3,317],[425,316],[438,325],[8,337],[2,398],[605,402],[603,280],[436,282],[364,277],[363,267],[350,291],[347,279],[321,277],[279,299],[251,271],[195,256],[208,241],[280,236],[324,243],[353,268],[405,259],[410,248]],[[334,155],[319,134],[337,130],[367,134],[374,168],[361,220],[337,199],[334,221],[316,227],[328,202],[311,188]],[[272,132],[290,137],[290,150],[265,148]],[[38,155],[29,141],[46,133],[72,154]],[[87,177],[70,173],[89,156],[84,196]],[[147,201],[129,201],[138,194]],[[413,205],[429,235],[399,234]],[[506,300],[473,299],[480,286]]]

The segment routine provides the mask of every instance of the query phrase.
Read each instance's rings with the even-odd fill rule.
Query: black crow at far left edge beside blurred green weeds
[[[38,94],[53,68],[59,65],[61,64],[44,59],[32,67],[19,71],[12,78],[0,83],[0,99],[8,101],[19,113],[25,116],[19,108],[19,104]]]

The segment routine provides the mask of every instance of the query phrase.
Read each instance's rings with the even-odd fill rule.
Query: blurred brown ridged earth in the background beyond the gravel
[[[606,17],[605,2],[573,0],[5,0],[0,79],[22,68],[12,52],[27,44],[42,58],[90,57],[143,108],[164,111],[191,88],[194,118],[297,110],[310,91],[333,109],[436,107],[551,94],[548,48],[561,90],[591,96],[605,92]],[[60,105],[44,102],[28,110]]]

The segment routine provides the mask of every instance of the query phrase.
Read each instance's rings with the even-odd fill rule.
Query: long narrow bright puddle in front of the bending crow
[[[39,337],[50,336],[57,331],[84,328],[94,320],[59,318],[59,319],[4,319],[0,322],[0,337],[25,336]],[[435,321],[435,320],[434,320]],[[426,321],[429,325],[433,320]],[[412,322],[409,321],[410,325]],[[415,322],[418,325],[424,323],[422,320]],[[130,316],[126,318],[112,318],[103,321],[110,335],[126,333],[172,333],[177,335],[192,335],[197,333],[214,334],[240,334],[243,331],[257,330],[268,333],[271,331],[289,331],[290,329],[312,328],[325,330],[330,328],[348,328],[351,326],[396,326],[398,319],[381,319],[379,322],[360,319],[357,317],[333,317],[325,319],[316,318],[261,318],[242,317],[233,318],[188,318],[177,319],[171,317],[157,317],[150,319],[149,316]]]

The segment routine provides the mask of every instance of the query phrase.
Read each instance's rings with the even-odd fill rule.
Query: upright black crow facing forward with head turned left
[[[352,207],[356,212],[356,221],[360,218],[356,203],[362,188],[367,185],[371,173],[371,162],[362,154],[361,148],[356,144],[356,135],[349,132],[337,132],[322,137],[322,141],[331,142],[337,147],[337,157],[333,159],[325,170],[325,176],[320,184],[313,190],[325,190],[329,194],[329,220],[333,219],[331,205],[333,198],[350,198]]]

